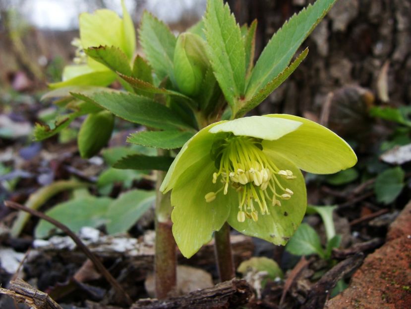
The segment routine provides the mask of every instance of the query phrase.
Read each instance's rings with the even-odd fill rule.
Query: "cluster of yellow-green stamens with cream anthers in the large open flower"
[[[211,157],[218,171],[213,173],[213,183],[220,178],[223,186],[216,192],[207,193],[206,202],[214,201],[221,191],[235,190],[238,194],[238,222],[245,218],[258,220],[261,214],[269,214],[268,204],[281,206],[279,199],[288,200],[294,194],[284,188],[277,177],[294,179],[291,170],[280,170],[263,152],[262,140],[219,134],[211,148]]]

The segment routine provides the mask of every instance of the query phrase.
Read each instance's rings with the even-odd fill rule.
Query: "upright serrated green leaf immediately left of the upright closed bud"
[[[148,11],[143,13],[140,26],[140,43],[144,53],[161,80],[169,76],[174,83],[173,59],[176,37],[169,27]]]

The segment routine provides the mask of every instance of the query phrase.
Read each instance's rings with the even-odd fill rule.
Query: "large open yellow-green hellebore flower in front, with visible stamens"
[[[209,125],[181,149],[160,188],[173,190],[173,234],[192,256],[227,221],[235,230],[286,244],[307,205],[300,169],[335,173],[357,161],[327,128],[282,114]]]

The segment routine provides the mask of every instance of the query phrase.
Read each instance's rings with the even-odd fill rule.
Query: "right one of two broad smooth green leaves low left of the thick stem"
[[[108,208],[107,232],[127,232],[153,206],[155,198],[155,191],[131,190],[121,194]]]

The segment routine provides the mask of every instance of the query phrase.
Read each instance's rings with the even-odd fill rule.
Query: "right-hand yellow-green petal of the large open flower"
[[[263,141],[265,151],[281,154],[310,173],[332,174],[352,167],[357,157],[350,145],[331,130],[313,121],[285,114],[267,115],[302,123],[298,130],[276,141]]]

